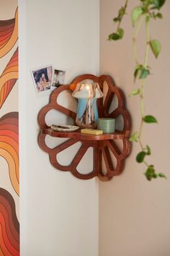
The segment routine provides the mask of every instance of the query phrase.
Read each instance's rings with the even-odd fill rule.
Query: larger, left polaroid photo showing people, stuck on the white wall
[[[52,65],[37,67],[32,69],[31,73],[35,85],[35,90],[38,94],[50,90],[53,81]]]

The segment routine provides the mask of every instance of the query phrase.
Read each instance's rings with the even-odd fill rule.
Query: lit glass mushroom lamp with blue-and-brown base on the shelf
[[[97,82],[79,82],[72,95],[79,100],[76,124],[81,128],[97,127],[97,98],[103,96],[99,84]]]

